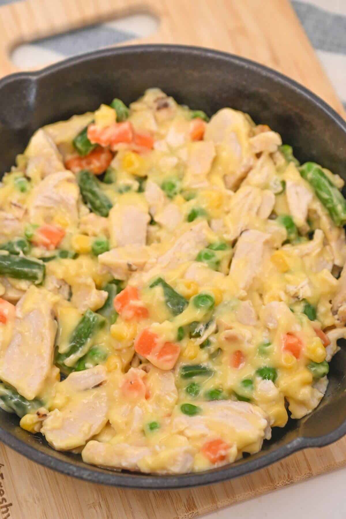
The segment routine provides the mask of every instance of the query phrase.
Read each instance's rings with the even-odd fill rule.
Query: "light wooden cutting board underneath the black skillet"
[[[201,45],[240,54],[296,79],[344,115],[288,0],[14,2],[0,7],[0,77],[16,71],[9,53],[18,43],[135,12],[152,13],[160,21],[157,33],[143,43]],[[188,519],[344,465],[346,438],[231,482],[148,492],[81,482],[36,465],[0,444],[0,516]]]

